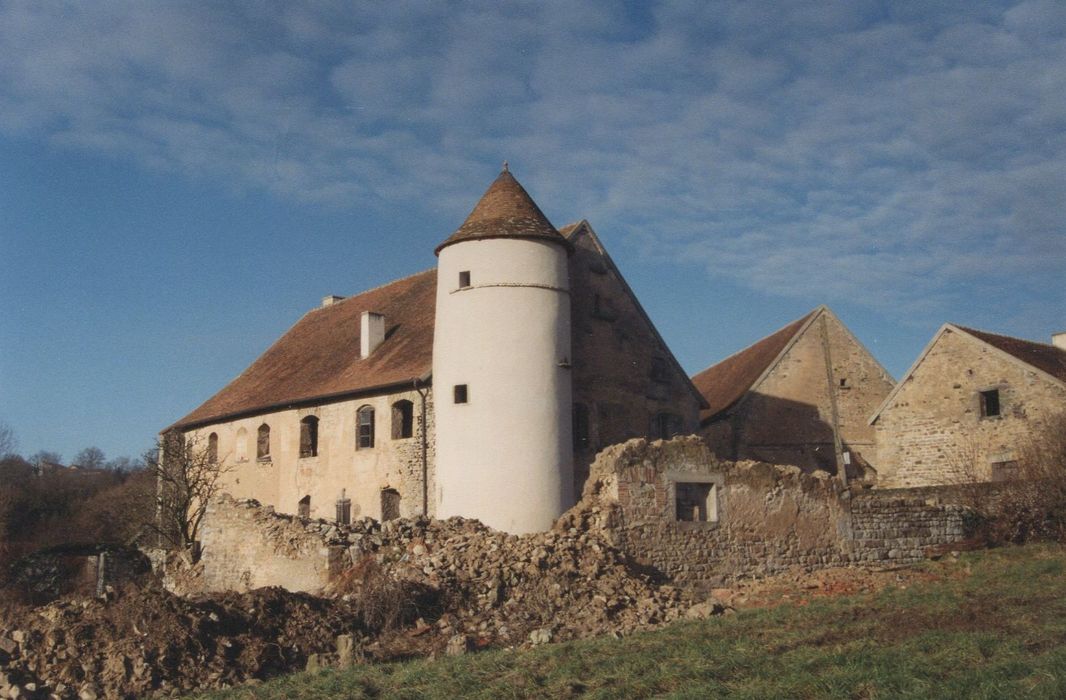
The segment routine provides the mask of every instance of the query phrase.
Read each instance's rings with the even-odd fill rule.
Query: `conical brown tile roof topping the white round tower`
[[[453,243],[474,239],[540,239],[570,247],[532,197],[504,167],[500,177],[482,195],[463,226],[437,246],[435,253]]]

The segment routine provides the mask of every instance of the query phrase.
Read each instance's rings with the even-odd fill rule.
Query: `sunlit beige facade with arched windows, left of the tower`
[[[406,400],[414,405],[414,435],[393,439],[392,404]],[[374,409],[374,445],[356,444],[356,412]],[[400,516],[423,512],[422,430],[426,434],[430,491],[433,493],[434,433],[433,397],[426,401],[426,425],[421,420],[418,392],[403,391],[381,396],[340,401],[307,408],[287,409],[205,426],[191,437],[206,444],[207,436],[219,436],[219,458],[225,466],[225,490],[236,498],[255,499],[279,512],[297,512],[301,499],[310,496],[312,518],[334,519],[343,492],[352,501],[352,519],[382,517],[382,491],[400,493]],[[300,422],[319,419],[319,449],[313,457],[300,456]],[[259,426],[270,426],[270,457],[256,457]],[[244,429],[245,452],[238,449],[238,433]],[[433,499],[430,499],[430,510]]]

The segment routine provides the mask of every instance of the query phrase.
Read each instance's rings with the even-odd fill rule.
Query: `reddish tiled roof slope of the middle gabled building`
[[[754,345],[731,355],[717,364],[711,365],[692,377],[693,384],[704,394],[709,408],[700,411],[699,421],[716,418],[730,408],[752,388],[752,385],[766,371],[766,368],[781,354],[785,346],[803,328],[807,320],[818,311],[807,315],[777,332],[766,336]]]

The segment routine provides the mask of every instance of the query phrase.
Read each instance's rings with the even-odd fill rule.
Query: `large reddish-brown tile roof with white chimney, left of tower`
[[[427,270],[309,311],[240,376],[171,427],[370,393],[426,377],[433,368],[436,288],[437,271]],[[365,360],[359,359],[364,311],[384,314],[386,325],[385,341]]]

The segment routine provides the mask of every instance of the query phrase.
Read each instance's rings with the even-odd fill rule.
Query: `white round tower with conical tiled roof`
[[[520,534],[574,504],[569,249],[505,164],[437,246],[438,518]]]

